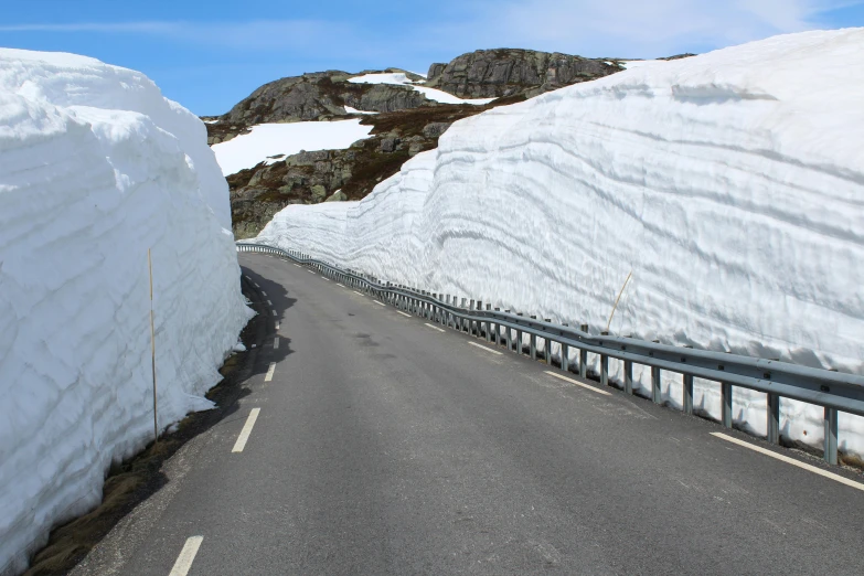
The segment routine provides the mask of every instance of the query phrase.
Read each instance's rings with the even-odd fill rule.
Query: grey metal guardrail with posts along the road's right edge
[[[765,360],[724,352],[694,350],[633,338],[588,333],[588,326],[579,329],[555,324],[548,319],[526,318],[510,310],[491,310],[490,305],[461,299],[449,295],[381,282],[376,278],[355,270],[343,269],[330,263],[309,257],[299,250],[284,250],[264,244],[237,243],[238,252],[260,252],[289,258],[311,266],[321,274],[338,279],[346,286],[375,295],[401,310],[486,338],[488,342],[505,345],[522,354],[524,334],[529,334],[527,353],[532,359],[542,356],[552,364],[552,342],[562,346],[562,370],[569,371],[569,349],[579,350],[577,366],[579,376],[587,376],[588,353],[600,356],[600,383],[609,385],[609,359],[623,362],[625,391],[633,393],[633,364],[651,367],[651,396],[661,404],[661,371],[674,372],[683,378],[682,405],[686,414],[693,414],[693,378],[700,377],[721,384],[723,425],[732,427],[733,386],[768,394],[768,441],[780,441],[780,398],[792,398],[824,408],[824,458],[838,463],[838,412],[864,416],[864,376],[810,366],[801,366],[778,360]],[[503,334],[502,334],[503,331]],[[515,335],[513,334],[515,332]],[[544,340],[537,349],[537,338]],[[515,345],[515,349],[514,349]]]

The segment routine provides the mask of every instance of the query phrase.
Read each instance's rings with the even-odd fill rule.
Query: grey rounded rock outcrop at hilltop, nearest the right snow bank
[[[531,50],[478,50],[429,67],[427,86],[460,98],[536,96],[621,68],[602,60]]]

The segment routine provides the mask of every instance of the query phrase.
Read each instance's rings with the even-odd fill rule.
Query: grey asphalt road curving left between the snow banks
[[[191,536],[207,576],[864,573],[864,491],[711,433],[817,460],[241,264],[276,312],[249,394],[74,575],[169,575]]]

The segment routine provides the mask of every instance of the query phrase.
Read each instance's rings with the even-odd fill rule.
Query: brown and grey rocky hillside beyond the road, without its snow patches
[[[209,118],[209,143],[231,140],[265,122],[362,118],[370,138],[346,150],[301,152],[227,177],[234,234],[247,238],[288,204],[360,200],[412,156],[435,148],[451,122],[622,70],[619,61],[529,50],[482,50],[433,64],[424,79],[399,68],[350,74],[328,71],[281,78],[252,93],[227,114]],[[497,98],[484,106],[441,104],[412,85],[355,84],[370,73],[404,73],[417,86],[459,98]],[[358,116],[345,109],[378,113]]]

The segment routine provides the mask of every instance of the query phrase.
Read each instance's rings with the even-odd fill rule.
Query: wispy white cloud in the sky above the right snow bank
[[[654,57],[819,28],[818,17],[862,0],[477,0],[439,34],[474,46]]]

